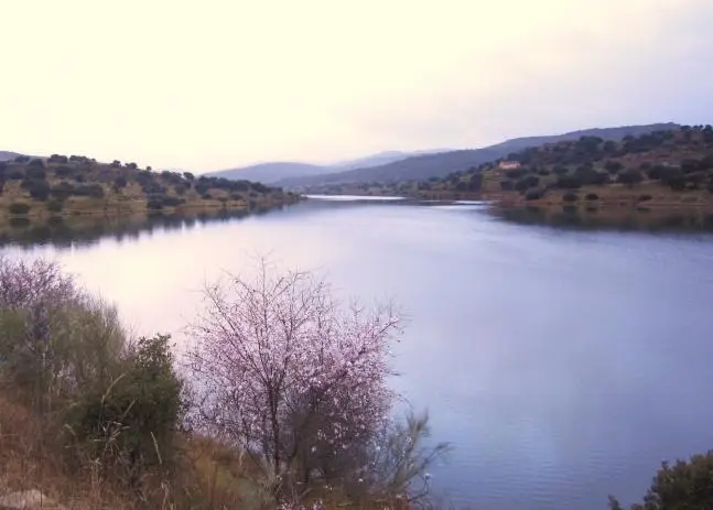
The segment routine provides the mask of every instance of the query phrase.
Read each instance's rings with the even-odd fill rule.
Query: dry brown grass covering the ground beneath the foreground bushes
[[[96,459],[86,458],[78,468],[69,468],[52,428],[0,391],[0,495],[37,489],[76,510],[276,508],[249,457],[214,440],[182,435],[176,465],[164,473],[144,474],[140,489],[134,490],[105,473]],[[295,493],[294,500],[310,508],[321,501],[324,509],[409,508],[399,499],[350,502],[334,488],[313,488]]]

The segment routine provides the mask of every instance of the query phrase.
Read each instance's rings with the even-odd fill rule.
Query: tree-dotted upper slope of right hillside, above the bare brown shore
[[[504,161],[520,167],[499,171]],[[456,172],[445,178],[418,183],[418,189],[479,191],[482,174],[499,172],[501,191],[539,198],[549,189],[574,191],[583,186],[635,185],[657,182],[672,191],[707,189],[713,193],[713,128],[681,127],[620,141],[581,137],[508,154],[504,160]]]

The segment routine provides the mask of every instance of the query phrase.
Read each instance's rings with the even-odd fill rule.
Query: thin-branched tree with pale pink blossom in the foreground
[[[272,269],[262,260],[255,279],[230,275],[205,290],[188,359],[203,423],[267,475],[309,482],[338,469],[343,453],[364,460],[359,452],[389,420],[399,317],[390,305],[345,311],[314,274]]]

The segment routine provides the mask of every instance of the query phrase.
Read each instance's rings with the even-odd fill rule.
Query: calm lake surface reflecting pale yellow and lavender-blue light
[[[410,317],[396,381],[454,451],[456,508],[605,509],[663,459],[713,447],[713,236],[560,230],[483,206],[307,200],[93,242],[7,245],[60,260],[137,334],[173,333],[199,289],[256,254],[324,271]]]

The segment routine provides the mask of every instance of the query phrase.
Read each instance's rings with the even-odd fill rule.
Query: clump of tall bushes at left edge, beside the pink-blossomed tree
[[[117,312],[58,267],[0,259],[0,388],[32,404],[56,453],[139,484],[170,460],[182,411],[169,337],[132,345]],[[76,464],[72,464],[76,463]]]

